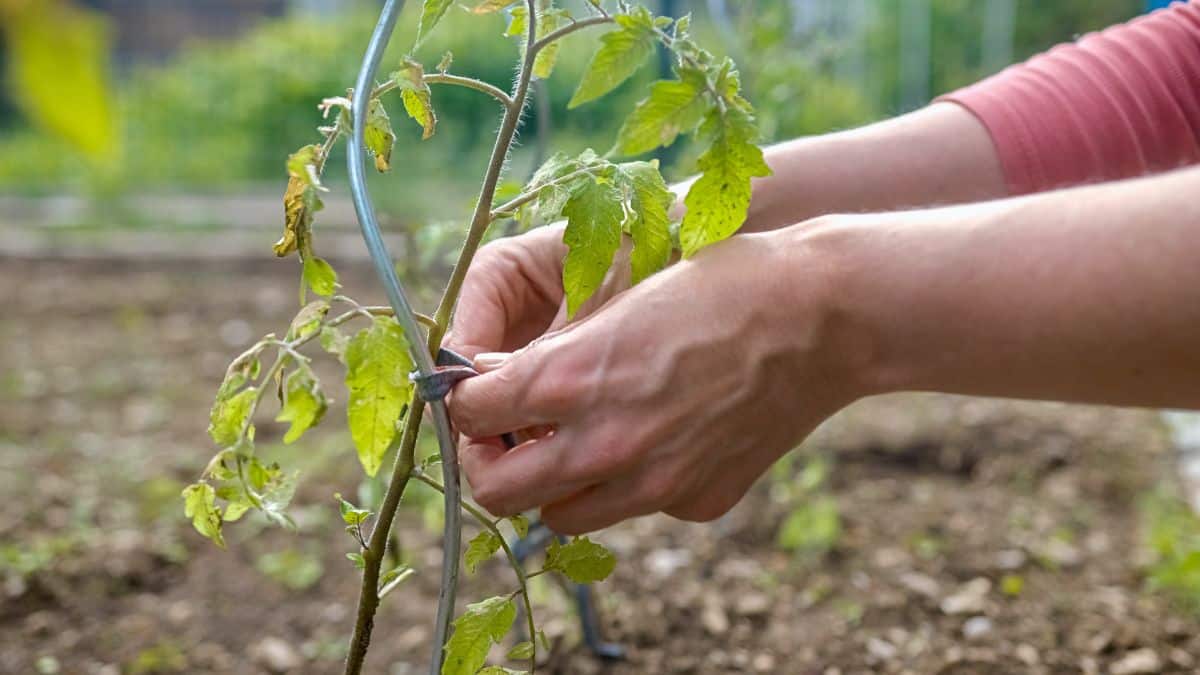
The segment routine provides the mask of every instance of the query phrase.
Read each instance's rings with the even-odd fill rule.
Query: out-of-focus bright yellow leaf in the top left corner
[[[96,12],[61,0],[0,0],[13,98],[30,119],[94,160],[116,150],[110,35]]]

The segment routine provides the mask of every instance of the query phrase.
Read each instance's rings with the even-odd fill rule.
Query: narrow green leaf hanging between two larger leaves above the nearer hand
[[[674,193],[662,180],[658,162],[624,163],[620,172],[628,178],[632,192],[629,234],[634,238],[630,263],[636,285],[671,261],[671,219],[667,211],[674,204]]]

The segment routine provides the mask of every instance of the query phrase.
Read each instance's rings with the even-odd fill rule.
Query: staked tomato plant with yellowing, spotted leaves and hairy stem
[[[377,32],[384,43],[398,5],[397,0],[385,5]],[[460,509],[480,524],[481,533],[466,550],[468,573],[503,551],[517,580],[512,592],[469,604],[454,620],[449,638],[436,638],[433,674],[523,673],[486,664],[491,647],[503,641],[512,628],[517,602],[523,605],[530,640],[512,647],[508,656],[512,661],[527,659],[533,671],[544,637],[534,622],[528,578],[557,573],[577,584],[590,584],[607,578],[616,565],[613,555],[604,546],[587,537],[577,537],[566,543],[552,543],[542,568],[527,573],[500,530],[502,521],[469,501],[454,497],[458,494],[457,466],[443,466],[443,477],[448,477],[444,484],[428,474],[428,466],[416,461],[418,432],[426,406],[415,398],[409,378],[414,356],[427,363],[438,353],[450,328],[463,279],[488,226],[505,219],[516,219],[524,227],[566,220],[563,240],[569,252],[563,264],[563,288],[568,313],[574,316],[600,287],[623,240],[631,240],[629,264],[634,282],[640,282],[666,267],[673,250],[689,257],[732,235],[745,219],[751,178],[769,173],[755,145],[754,112],[739,92],[737,68],[731,60],[714,58],[696,44],[689,32],[689,17],[656,17],[625,1],[589,0],[587,16],[576,17],[556,6],[553,0],[475,0],[469,11],[479,14],[480,20],[491,20],[488,16],[492,14],[506,16],[505,35],[521,46],[516,83],[505,91],[452,73],[450,54],[432,71],[419,60],[421,43],[451,5],[451,0],[424,0],[416,43],[409,55],[373,88],[360,86],[360,91],[348,96],[323,101],[320,109],[330,124],[319,129],[322,142],[305,145],[288,157],[288,185],[283,197],[286,227],[275,253],[281,257],[298,255],[302,306],[283,338],[263,338],[229,365],[217,390],[209,426],[221,449],[200,479],[184,490],[186,515],[197,531],[222,548],[226,545],[224,525],[251,509],[262,512],[271,522],[293,526],[287,507],[296,474],[256,454],[253,419],[268,392],[276,393],[280,410],[275,419],[289,424],[283,441],[296,441],[322,420],[326,408],[325,394],[311,365],[319,352],[313,353],[310,345],[318,344],[322,351],[344,365],[349,390],[347,424],[362,470],[373,477],[385,458],[395,458],[378,513],[337,497],[346,531],[355,545],[347,557],[361,571],[362,578],[346,661],[348,675],[362,670],[379,602],[413,573],[407,567],[384,568],[396,508],[412,480],[449,495],[448,513],[455,518],[446,519],[448,551],[457,551],[461,540]],[[600,35],[600,44],[571,97],[570,108],[587,104],[619,86],[660,46],[673,56],[674,77],[649,88],[646,98],[622,125],[611,150],[602,155],[593,150],[574,157],[554,155],[520,195],[497,203],[497,186],[521,126],[530,83],[551,77],[562,40],[593,26],[605,26],[607,31]],[[376,40],[372,48],[374,43]],[[368,60],[371,54],[368,50]],[[433,85],[464,86],[490,96],[498,103],[503,119],[466,241],[433,315],[420,317],[425,333],[421,335],[413,334],[419,333],[415,329],[406,331],[392,307],[366,306],[338,294],[336,271],[316,252],[313,220],[322,209],[320,193],[326,190],[322,175],[330,154],[342,137],[354,135],[354,98],[367,97],[359,112],[359,119],[365,123],[361,142],[376,168],[388,172],[396,136],[386,103],[398,98],[406,114],[419,125],[422,138],[430,138],[437,131]],[[620,157],[644,155],[671,145],[680,135],[694,136],[707,149],[697,162],[700,177],[684,199],[686,215],[680,222],[672,222],[670,214],[676,196],[667,189],[658,163],[622,161]],[[359,139],[354,137],[352,142],[355,148]],[[352,150],[350,161],[353,169],[361,156]],[[311,301],[310,294],[314,298]],[[343,329],[352,322],[364,325],[348,335]],[[414,350],[428,350],[430,359]],[[264,360],[269,362],[265,369]],[[452,454],[444,456],[454,462]],[[511,527],[517,537],[528,531],[529,524],[523,518],[506,520],[505,527]],[[449,617],[458,556],[446,557],[443,579],[450,581],[442,592],[439,616]],[[437,633],[444,634],[443,631]]]

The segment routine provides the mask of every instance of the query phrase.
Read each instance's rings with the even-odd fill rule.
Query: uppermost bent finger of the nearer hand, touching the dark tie
[[[467,436],[499,436],[560,422],[582,394],[584,372],[576,372],[560,341],[545,340],[511,356],[488,354],[486,372],[460,382],[450,400],[450,418]],[[490,369],[490,370],[488,370]]]

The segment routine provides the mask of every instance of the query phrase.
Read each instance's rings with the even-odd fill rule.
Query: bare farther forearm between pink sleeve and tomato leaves
[[[954,103],[766,150],[743,232],[832,213],[884,211],[994,199],[1004,177],[984,126]]]

